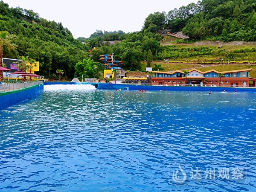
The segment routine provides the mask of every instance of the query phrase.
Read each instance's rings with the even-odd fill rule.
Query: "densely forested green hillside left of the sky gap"
[[[29,56],[40,62],[41,75],[61,69],[64,76],[73,77],[74,66],[89,50],[62,23],[40,18],[32,10],[10,8],[3,1],[0,1],[0,31],[16,35],[12,43],[17,49],[4,48],[3,57]]]

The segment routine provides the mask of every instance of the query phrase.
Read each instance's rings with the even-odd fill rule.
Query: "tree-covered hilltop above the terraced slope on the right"
[[[201,0],[167,14],[150,14],[143,31],[182,31],[195,40],[256,41],[255,11],[255,0]]]

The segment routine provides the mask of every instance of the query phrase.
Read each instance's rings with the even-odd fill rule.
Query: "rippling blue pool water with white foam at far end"
[[[256,191],[256,93],[76,86],[0,111],[1,192]]]

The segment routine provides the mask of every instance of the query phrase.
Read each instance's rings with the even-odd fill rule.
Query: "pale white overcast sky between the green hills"
[[[61,22],[74,38],[89,37],[96,29],[134,32],[142,29],[145,18],[198,0],[3,0],[9,7],[32,9],[40,17]]]

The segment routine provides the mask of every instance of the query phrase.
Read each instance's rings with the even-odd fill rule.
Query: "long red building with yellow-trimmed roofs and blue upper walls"
[[[157,85],[201,85],[201,86],[225,86],[225,87],[249,87],[256,85],[256,79],[250,78],[252,69],[202,72],[192,69],[187,75],[184,71],[160,72],[153,71],[151,83]]]

